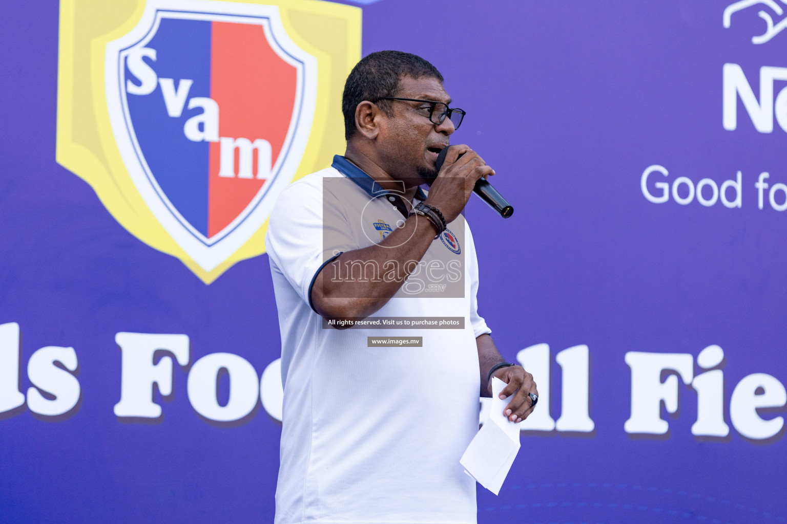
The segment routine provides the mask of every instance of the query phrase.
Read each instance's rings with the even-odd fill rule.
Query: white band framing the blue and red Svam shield
[[[272,166],[271,177],[246,209],[211,238],[194,229],[161,190],[142,155],[128,114],[125,59],[129,49],[144,47],[153,38],[163,17],[261,25],[271,49],[297,70],[295,109],[279,158]],[[292,181],[301,163],[312,132],[316,106],[316,57],[306,53],[290,39],[279,17],[279,8],[275,5],[212,0],[149,0],[139,24],[126,35],[107,44],[104,71],[109,121],[131,180],[158,222],[183,251],[205,271],[215,269],[246,244],[268,220],[276,198]]]

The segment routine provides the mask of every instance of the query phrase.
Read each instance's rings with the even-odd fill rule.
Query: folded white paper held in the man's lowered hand
[[[468,475],[495,495],[500,493],[505,476],[519,452],[519,424],[503,415],[510,399],[501,400],[499,397],[505,386],[501,379],[492,377],[490,416],[459,460]]]

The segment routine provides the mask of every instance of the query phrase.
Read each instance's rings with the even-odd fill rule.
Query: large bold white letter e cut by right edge
[[[762,390],[762,393],[757,392]],[[759,408],[781,408],[787,403],[784,385],[766,373],[745,376],[733,390],[730,399],[730,420],[738,433],[746,438],[763,440],[774,437],[784,427],[784,417],[763,420]]]

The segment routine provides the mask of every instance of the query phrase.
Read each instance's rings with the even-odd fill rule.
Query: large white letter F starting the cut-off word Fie
[[[661,418],[661,402],[668,413],[678,411],[678,377],[668,376],[661,382],[661,372],[674,371],[691,383],[694,357],[681,353],[626,353],[631,368],[631,416],[623,425],[626,433],[666,434],[669,423]]]

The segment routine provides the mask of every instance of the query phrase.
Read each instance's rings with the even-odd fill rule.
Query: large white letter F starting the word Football
[[[161,406],[153,402],[153,384],[157,384],[162,396],[172,394],[172,357],[161,357],[153,365],[153,354],[168,351],[179,365],[186,366],[190,360],[189,337],[120,332],[115,335],[115,342],[122,353],[120,402],[115,405],[115,415],[158,418]]]

